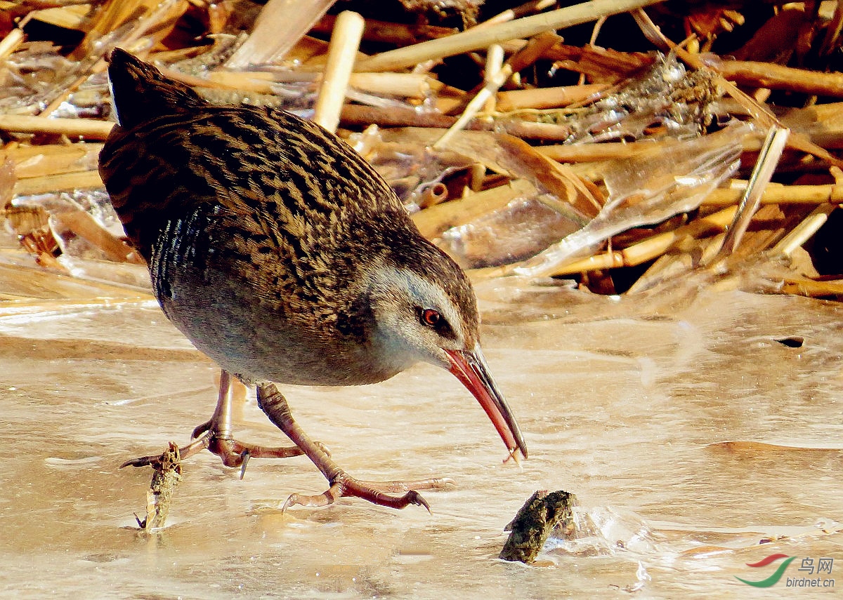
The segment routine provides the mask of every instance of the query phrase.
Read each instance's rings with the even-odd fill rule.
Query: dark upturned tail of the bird
[[[164,77],[157,68],[121,48],[111,51],[108,77],[117,123],[123,129],[205,104],[192,88]]]

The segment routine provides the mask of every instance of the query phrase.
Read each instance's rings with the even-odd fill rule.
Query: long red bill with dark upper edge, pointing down
[[[472,351],[446,350],[448,359],[451,361],[450,371],[454,376],[469,389],[471,394],[480,402],[486,415],[497,429],[503,443],[507,445],[510,456],[515,458],[515,453],[520,452],[527,458],[527,447],[524,445],[524,438],[521,437],[521,430],[507,401],[497,388],[495,380],[491,378],[489,367],[486,366],[486,359],[483,357],[480,345]]]

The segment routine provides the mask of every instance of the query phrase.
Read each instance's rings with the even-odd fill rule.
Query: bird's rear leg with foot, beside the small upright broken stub
[[[295,446],[289,447],[266,447],[257,444],[246,444],[238,442],[232,437],[231,410],[233,390],[231,386],[231,374],[223,370],[219,378],[219,397],[217,408],[209,421],[201,424],[193,430],[192,441],[185,447],[180,447],[182,459],[189,458],[207,448],[219,458],[227,467],[240,467],[240,477],[246,470],[246,464],[250,458],[289,458],[300,456],[303,452]],[[316,442],[318,444],[318,442]],[[325,447],[318,444],[326,452]],[[133,467],[155,466],[161,460],[160,456],[143,456],[134,458],[121,464],[122,467],[132,465]]]

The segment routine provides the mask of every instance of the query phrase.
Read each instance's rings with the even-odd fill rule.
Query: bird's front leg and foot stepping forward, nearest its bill
[[[282,512],[290,506],[328,506],[338,498],[354,496],[389,508],[404,508],[416,504],[424,506],[430,512],[430,505],[416,490],[442,490],[452,487],[452,479],[421,479],[418,481],[362,481],[354,479],[330,458],[317,442],[311,441],[302,430],[287,405],[287,399],[278,391],[274,383],[258,385],[258,405],[270,421],[293,440],[302,452],[310,458],[316,468],[328,479],[330,487],[318,496],[293,494],[282,506]],[[405,492],[403,496],[389,496],[390,493]]]

